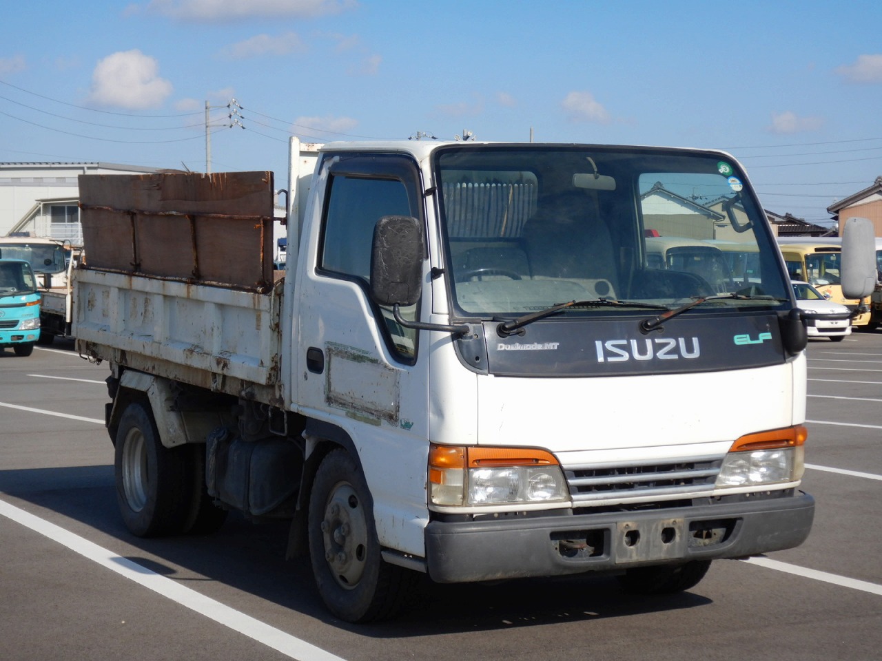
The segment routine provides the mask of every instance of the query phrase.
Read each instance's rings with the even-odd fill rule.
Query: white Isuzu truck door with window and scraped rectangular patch
[[[424,219],[419,170],[400,155],[329,153],[320,181],[321,219],[303,237],[313,254],[299,274],[298,402],[354,442],[380,544],[422,555],[428,351],[369,296],[377,220]]]

